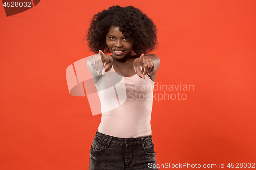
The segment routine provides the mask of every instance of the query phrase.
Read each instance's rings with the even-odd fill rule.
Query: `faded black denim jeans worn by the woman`
[[[152,168],[156,164],[155,155],[151,135],[118,138],[97,131],[90,151],[89,170],[156,170]]]

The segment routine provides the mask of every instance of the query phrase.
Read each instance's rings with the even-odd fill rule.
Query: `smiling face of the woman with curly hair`
[[[132,56],[133,41],[125,37],[117,26],[111,26],[106,34],[106,45],[115,59],[129,58]]]

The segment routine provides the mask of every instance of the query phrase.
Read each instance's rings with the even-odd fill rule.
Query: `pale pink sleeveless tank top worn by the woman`
[[[154,82],[145,75],[124,77],[113,69],[95,84],[101,102],[100,133],[121,137],[151,135]]]

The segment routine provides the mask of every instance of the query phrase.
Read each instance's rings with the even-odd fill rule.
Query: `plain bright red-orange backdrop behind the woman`
[[[45,0],[10,17],[0,7],[1,169],[88,169],[100,115],[69,94],[65,70],[92,55],[93,14],[117,4],[156,24],[156,82],[194,85],[153,103],[157,163],[255,163],[256,1]]]

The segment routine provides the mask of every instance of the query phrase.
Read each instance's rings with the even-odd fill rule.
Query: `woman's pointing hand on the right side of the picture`
[[[142,54],[140,58],[136,58],[133,61],[133,69],[139,77],[145,80],[145,75],[151,75],[154,69],[154,63],[150,57]]]

